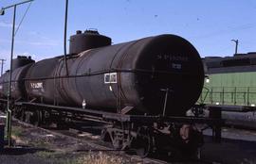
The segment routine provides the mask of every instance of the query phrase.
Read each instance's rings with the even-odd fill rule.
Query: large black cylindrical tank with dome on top
[[[86,102],[96,110],[120,113],[131,107],[129,112],[138,115],[185,116],[204,83],[196,49],[170,34],[111,45],[111,39],[96,30],[78,31],[70,37],[66,57],[30,65],[30,58],[14,61],[20,81],[15,98],[55,106],[82,107]]]

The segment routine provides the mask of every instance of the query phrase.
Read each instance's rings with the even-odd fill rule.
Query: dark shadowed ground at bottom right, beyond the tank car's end
[[[206,132],[210,135],[210,132]],[[222,129],[222,142],[213,143],[205,137],[202,147],[202,158],[215,163],[255,164],[256,163],[256,132],[233,128]]]

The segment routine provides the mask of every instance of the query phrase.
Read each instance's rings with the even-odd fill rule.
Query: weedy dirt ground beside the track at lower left
[[[12,138],[15,147],[6,147],[0,154],[1,164],[141,163],[111,152],[94,152],[95,147],[80,139],[61,137],[17,123],[13,124]]]

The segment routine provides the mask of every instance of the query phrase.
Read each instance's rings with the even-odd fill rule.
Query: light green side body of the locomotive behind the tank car
[[[198,103],[254,107],[256,72],[209,74]]]

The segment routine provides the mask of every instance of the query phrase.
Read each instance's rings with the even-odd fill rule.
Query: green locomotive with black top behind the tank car
[[[207,76],[198,104],[255,109],[256,53],[205,57],[203,61]]]

